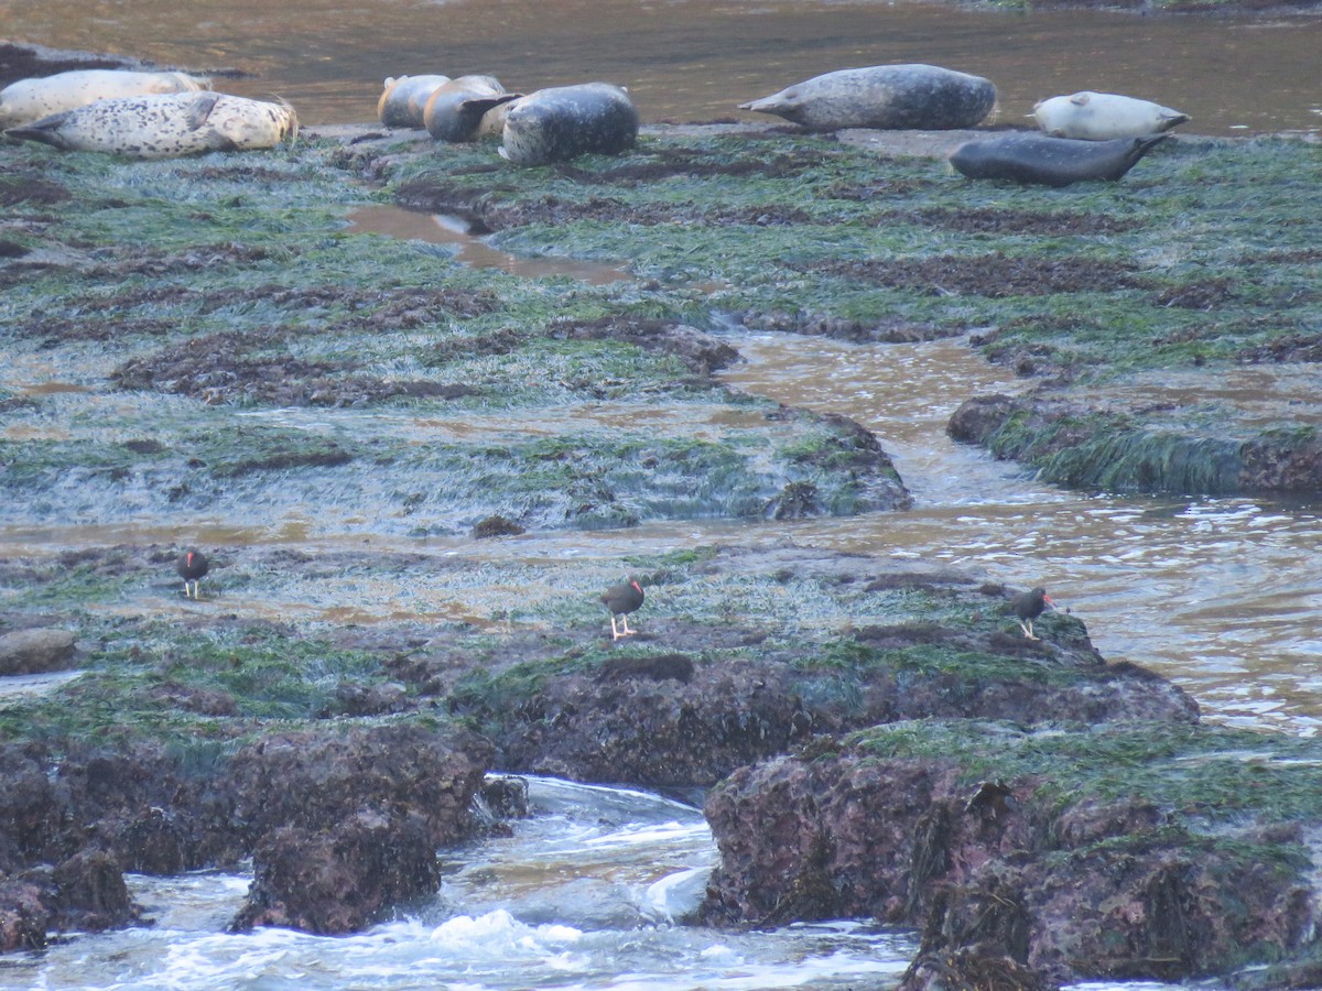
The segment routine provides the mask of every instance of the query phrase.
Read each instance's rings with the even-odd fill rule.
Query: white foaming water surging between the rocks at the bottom
[[[151,928],[0,955],[0,987],[56,991],[878,987],[908,966],[910,933],[841,920],[752,933],[676,924],[715,846],[701,811],[628,789],[530,778],[514,835],[459,851],[440,895],[350,937],[226,934],[249,877],[135,876]]]

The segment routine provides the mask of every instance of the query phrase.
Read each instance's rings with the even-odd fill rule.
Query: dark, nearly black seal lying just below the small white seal
[[[951,164],[969,178],[1068,186],[1096,178],[1117,180],[1169,136],[1084,141],[1023,132],[962,144],[951,155]]]

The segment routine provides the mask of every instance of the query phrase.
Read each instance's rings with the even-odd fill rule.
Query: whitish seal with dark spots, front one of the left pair
[[[131,159],[169,159],[212,151],[271,148],[299,133],[288,103],[222,92],[167,92],[97,100],[53,114],[8,137],[70,152],[110,152]]]

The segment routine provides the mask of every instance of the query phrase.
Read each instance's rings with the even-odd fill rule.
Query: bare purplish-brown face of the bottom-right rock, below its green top
[[[1005,778],[981,780],[962,760],[883,754],[908,732],[818,741],[714,789],[706,814],[722,860],[706,918],[921,926],[907,988],[1015,971],[1040,987],[1179,980],[1232,970],[1249,947],[1307,945],[1314,909],[1296,827],[1241,823],[1233,842],[1215,839],[1187,828],[1187,810],[1079,794],[1062,780],[1076,769],[1064,754],[1027,777],[1006,760]],[[1006,723],[956,732],[1003,757],[1005,741],[1027,743]]]

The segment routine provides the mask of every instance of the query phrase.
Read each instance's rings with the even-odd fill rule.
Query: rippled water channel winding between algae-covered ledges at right
[[[958,341],[878,348],[767,336],[739,348],[751,361],[732,382],[859,420],[916,497],[898,518],[798,525],[798,539],[1044,584],[1104,654],[1183,684],[1210,719],[1303,735],[1322,725],[1318,506],[1039,485],[945,436],[962,396],[1018,388]]]

